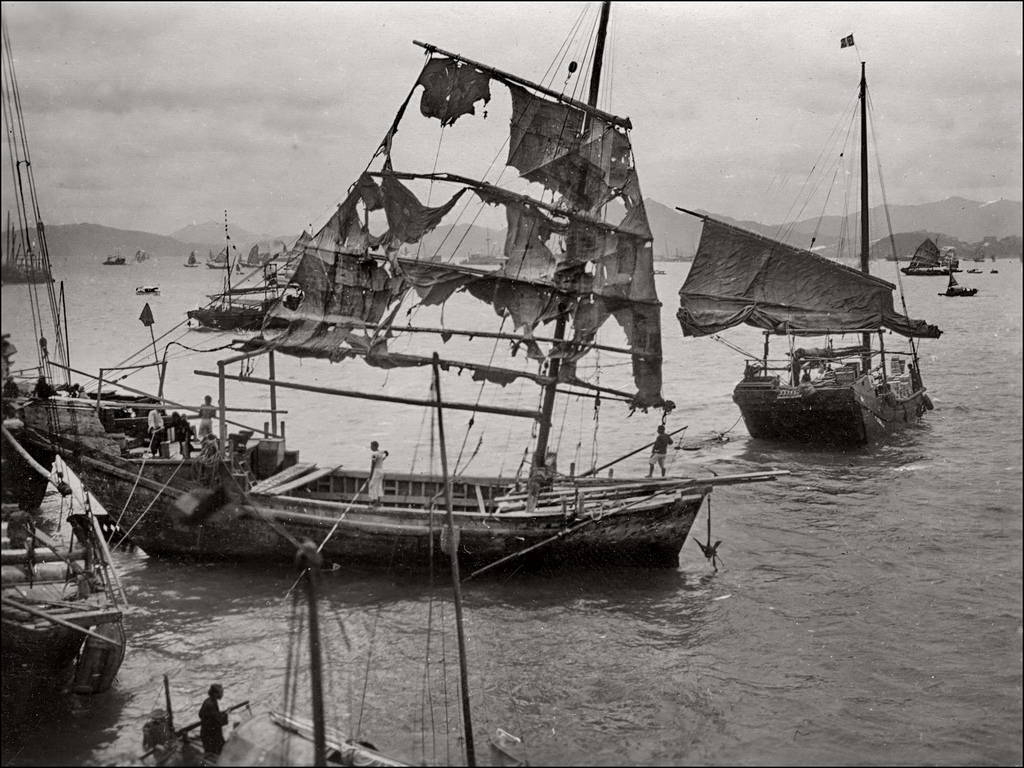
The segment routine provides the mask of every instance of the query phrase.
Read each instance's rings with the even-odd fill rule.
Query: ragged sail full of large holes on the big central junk
[[[628,121],[571,99],[550,98],[543,89],[524,87],[525,81],[513,83],[495,71],[446,56],[429,59],[417,80],[423,87],[420,111],[453,125],[489,100],[492,82],[505,85],[512,95],[508,164],[560,200],[543,203],[464,177],[392,170],[391,142],[407,100],[382,142],[382,170],[364,174],[327,224],[302,246],[292,279],[302,298],[292,306],[283,302],[271,312],[289,327],[275,337],[250,342],[249,348],[269,345],[330,359],[360,354],[375,365],[390,365],[394,360],[387,359],[385,339],[391,332],[385,328],[410,291],[424,304],[465,291],[489,303],[500,317],[509,317],[524,340],[559,314],[568,317],[570,336],[553,344],[547,356],[562,360],[559,379],[569,383],[574,379],[571,364],[587,352],[607,317],[614,316],[633,353],[633,404],[665,406],[660,302]],[[442,205],[429,207],[402,183],[410,178],[459,188]],[[439,226],[467,193],[505,209],[508,232],[501,269],[481,274],[469,267],[397,257],[401,246],[419,243]],[[617,222],[601,215],[611,202],[625,210]],[[381,209],[387,229],[374,234],[368,215]],[[539,347],[528,346],[536,356]]]

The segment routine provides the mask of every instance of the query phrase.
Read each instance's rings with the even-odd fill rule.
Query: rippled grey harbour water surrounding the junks
[[[216,398],[216,382],[193,372],[215,371],[229,352],[190,349],[218,347],[228,337],[178,330],[161,338],[222,278],[185,269],[183,260],[57,265],[73,365],[95,372],[136,349],[148,355],[138,362],[152,361],[150,332],[137,319],[148,302],[160,354],[175,342],[167,347],[168,396],[193,406],[207,393]],[[945,332],[922,347],[935,410],[885,445],[846,453],[750,439],[730,399],[741,357],[711,339],[682,339],[674,315],[687,265],[658,266],[666,270],[658,276],[665,389],[678,406],[668,426],[688,425],[682,440],[699,449],[674,453],[670,471],[792,475],[712,495],[712,536],[723,541],[718,571],[687,542],[677,570],[515,573],[464,585],[482,760],[482,742],[501,727],[523,739],[534,765],[1020,765],[1020,262],[964,274],[964,284],[979,289],[972,299],[938,297],[941,279],[904,279],[910,314]],[[988,271],[993,267],[998,274]],[[876,270],[895,281],[894,265]],[[134,295],[136,285],[154,283],[161,296]],[[3,331],[22,350],[16,360],[32,365],[27,292],[7,286],[2,298]],[[459,311],[490,326],[489,310]],[[454,316],[443,319],[454,324]],[[751,351],[761,347],[753,330],[725,338]],[[408,348],[424,353],[435,343],[417,337]],[[616,343],[613,331],[608,343]],[[468,348],[453,339],[441,351],[467,359]],[[601,362],[601,383],[626,388],[628,366],[607,354]],[[264,375],[265,366],[257,364],[254,375]],[[279,358],[278,373],[322,386],[428,396],[426,369],[384,374],[355,361]],[[157,376],[146,369],[124,383],[153,391]],[[479,396],[468,373],[444,386],[446,397]],[[263,395],[258,387],[228,387],[229,402],[240,408],[265,408]],[[537,399],[513,387],[485,397],[521,408]],[[295,391],[282,394],[281,408],[289,412],[289,447],[303,459],[361,468],[369,441],[378,439],[391,453],[392,470],[436,465],[430,417],[421,410]],[[561,416],[563,470],[569,462],[611,461],[652,439],[658,423],[654,415],[630,417],[613,402],[596,416],[591,400]],[[239,418],[246,417],[257,426],[269,418]],[[446,417],[450,455],[461,455],[460,468],[515,471],[528,423],[481,418],[464,437],[467,426],[464,414]],[[714,439],[721,433],[728,440]],[[616,474],[645,472],[642,456],[616,465]],[[694,528],[701,540],[707,525],[701,513]],[[164,675],[179,724],[195,719],[215,681],[225,687],[226,705],[248,699],[255,711],[281,708],[287,684],[298,691],[299,709],[306,707],[305,679],[287,672],[290,660],[302,667],[306,658],[301,606],[294,607],[290,592],[295,572],[171,563],[140,552],[116,557],[133,605],[116,686],[62,701],[52,723],[5,750],[5,764],[124,763],[141,752],[141,727],[162,703]],[[450,594],[443,580],[432,586],[387,572],[325,573],[335,725],[413,762],[459,761]]]

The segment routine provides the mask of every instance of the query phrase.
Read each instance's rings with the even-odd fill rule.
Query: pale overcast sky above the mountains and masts
[[[167,234],[227,209],[252,231],[294,234],[322,224],[366,167],[423,65],[414,39],[540,81],[597,7],[4,2],[3,13],[48,224]],[[1022,7],[614,3],[602,106],[633,122],[645,197],[779,223],[855,103],[863,59],[890,203],[1021,200]],[[841,49],[850,34],[856,47]]]

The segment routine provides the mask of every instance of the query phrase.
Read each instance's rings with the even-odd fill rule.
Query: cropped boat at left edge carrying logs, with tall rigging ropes
[[[29,162],[26,126],[19,109],[10,50],[7,18],[3,18],[3,128],[7,137],[11,171],[31,195],[15,196],[22,231],[35,231],[37,263],[46,274],[29,282],[34,306],[49,305],[47,318],[39,309],[40,333],[53,333],[52,346],[45,337],[37,345],[39,368],[50,372],[50,355],[67,361],[62,335],[61,304],[49,280],[50,257],[38,197]],[[19,187],[20,188],[20,187]],[[45,296],[42,295],[45,292]],[[62,298],[62,296],[61,296]],[[52,328],[47,323],[52,322]],[[69,508],[67,501],[82,502],[81,494],[50,472],[54,451],[44,444],[23,442],[20,408],[29,401],[45,401],[53,390],[43,378],[37,380],[36,398],[27,398],[24,385],[15,381],[25,371],[12,369],[14,345],[3,336],[3,428],[0,436],[0,468],[4,507],[2,540],[2,629],[0,629],[0,688],[5,748],[35,726],[60,711],[58,702],[69,688],[90,694],[108,690],[121,667],[125,651],[122,609],[127,604],[111,562],[110,551],[95,516],[87,505]],[[35,376],[27,377],[28,380]],[[56,477],[61,477],[57,474]],[[48,485],[65,501],[61,515],[39,510]],[[72,497],[72,499],[69,499]],[[53,519],[57,518],[57,519]]]

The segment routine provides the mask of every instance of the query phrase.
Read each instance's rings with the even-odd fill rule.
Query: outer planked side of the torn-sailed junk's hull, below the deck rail
[[[152,556],[198,560],[291,561],[296,541],[326,542],[324,556],[341,564],[425,567],[442,560],[445,512],[422,507],[346,504],[289,496],[231,497],[200,524],[181,506],[187,490],[175,477],[190,463],[141,463],[115,457],[69,455],[66,461],[110,509],[131,542]],[[141,470],[141,471],[140,471]],[[139,482],[135,484],[135,478]],[[134,493],[132,488],[134,487]],[[536,513],[458,511],[460,558],[467,568],[516,556],[515,564],[676,567],[679,551],[710,487],[673,493],[626,511],[561,509]],[[573,529],[574,528],[574,529]],[[553,540],[553,541],[551,541]],[[530,547],[536,552],[526,552]]]

